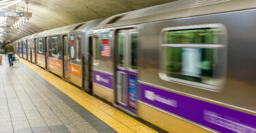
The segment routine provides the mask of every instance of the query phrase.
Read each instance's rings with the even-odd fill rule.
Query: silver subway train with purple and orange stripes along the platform
[[[29,35],[23,59],[171,132],[256,132],[256,1],[181,0]]]

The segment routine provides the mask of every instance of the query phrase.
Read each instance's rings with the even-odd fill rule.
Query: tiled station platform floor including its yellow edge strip
[[[0,64],[0,133],[156,132],[29,61]]]

